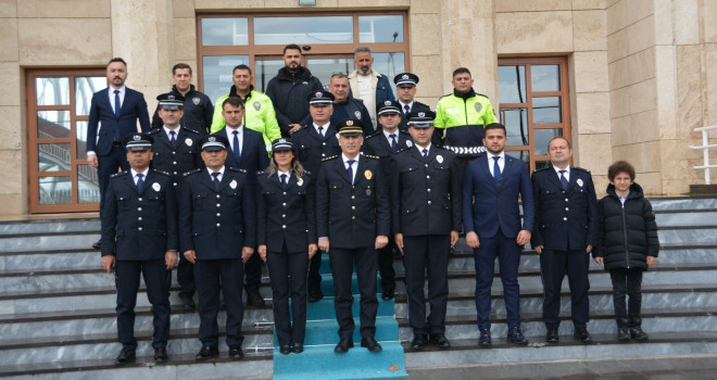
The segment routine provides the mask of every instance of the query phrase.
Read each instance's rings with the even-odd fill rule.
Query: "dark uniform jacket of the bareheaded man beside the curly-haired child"
[[[553,166],[532,174],[536,227],[531,245],[548,250],[584,250],[595,246],[600,231],[598,198],[590,172],[571,167],[567,190]]]

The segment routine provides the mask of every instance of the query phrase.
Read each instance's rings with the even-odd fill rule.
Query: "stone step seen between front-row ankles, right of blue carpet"
[[[706,307],[681,307],[681,308],[642,308],[642,328],[645,332],[688,332],[688,331],[713,331],[717,326],[716,306]],[[505,338],[507,334],[505,314],[491,314],[491,335]],[[399,340],[410,341],[413,331],[407,318],[399,320]],[[573,324],[568,314],[561,314],[559,334],[571,334]],[[545,325],[541,313],[521,313],[520,326],[525,335],[536,342],[544,342]],[[588,330],[595,334],[615,334],[617,326],[612,307],[590,311]],[[445,337],[453,339],[478,339],[478,330],[475,314],[450,316],[445,318]]]

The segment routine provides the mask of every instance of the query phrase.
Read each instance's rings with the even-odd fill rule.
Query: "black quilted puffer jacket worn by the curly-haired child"
[[[646,256],[657,257],[659,252],[657,224],[650,201],[638,183],[630,186],[625,206],[615,186],[608,185],[606,191],[607,195],[598,202],[600,238],[592,255],[604,257],[607,270],[647,269]]]

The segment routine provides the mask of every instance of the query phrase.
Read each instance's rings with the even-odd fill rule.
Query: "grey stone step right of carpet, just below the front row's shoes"
[[[575,341],[570,334],[564,334],[557,344],[541,342],[527,346],[510,344],[504,337],[493,338],[490,349],[478,346],[475,339],[451,340],[451,347],[439,350],[425,347],[413,351],[408,343],[403,343],[405,365],[407,368],[456,367],[470,364],[510,364],[515,362],[549,362],[549,360],[586,360],[605,357],[655,357],[661,355],[707,355],[717,350],[717,332],[653,332],[644,343],[617,342],[614,333],[592,334],[593,343],[583,344]],[[550,364],[548,364],[550,365]],[[487,373],[483,373],[487,375]],[[499,373],[496,373],[499,375]],[[501,372],[500,378],[513,378]],[[574,373],[575,375],[575,373]],[[521,372],[521,376],[525,373]],[[498,376],[496,376],[498,378]],[[581,373],[569,376],[570,379],[581,378]],[[584,377],[582,377],[584,378]],[[594,378],[594,377],[589,377]],[[599,376],[599,378],[602,378]],[[609,376],[608,376],[609,378]]]

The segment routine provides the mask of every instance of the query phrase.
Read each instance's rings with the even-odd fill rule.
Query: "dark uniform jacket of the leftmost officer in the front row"
[[[105,192],[103,256],[160,259],[166,251],[177,250],[177,208],[169,176],[150,169],[139,193],[130,172],[120,172],[110,178]]]

